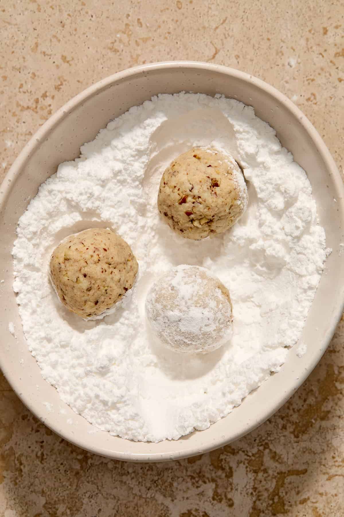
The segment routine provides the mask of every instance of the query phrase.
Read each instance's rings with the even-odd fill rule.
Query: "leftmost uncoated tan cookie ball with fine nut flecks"
[[[55,248],[50,277],[57,296],[83,318],[104,313],[133,286],[138,264],[129,245],[112,230],[91,228]]]

